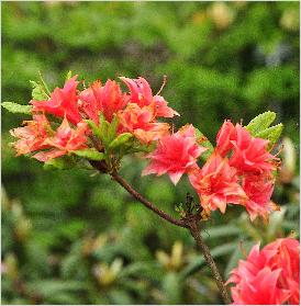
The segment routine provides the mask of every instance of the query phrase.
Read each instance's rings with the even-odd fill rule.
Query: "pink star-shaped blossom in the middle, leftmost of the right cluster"
[[[193,126],[187,125],[158,140],[156,150],[146,156],[152,161],[143,175],[168,173],[172,183],[177,184],[183,173],[189,173],[197,167],[197,158],[205,150],[197,144]]]

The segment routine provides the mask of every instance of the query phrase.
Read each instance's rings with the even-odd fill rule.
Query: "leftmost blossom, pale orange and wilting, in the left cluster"
[[[44,141],[52,127],[45,115],[34,114],[33,121],[24,121],[23,124],[26,126],[10,131],[12,136],[20,138],[13,144],[18,156],[48,147]]]

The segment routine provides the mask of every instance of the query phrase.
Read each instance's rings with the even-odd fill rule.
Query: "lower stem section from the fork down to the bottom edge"
[[[226,286],[223,282],[223,279],[220,274],[220,271],[210,253],[210,250],[208,248],[208,246],[204,243],[203,241],[203,238],[200,234],[200,230],[199,230],[199,227],[198,227],[198,223],[196,219],[193,219],[192,222],[189,223],[189,230],[192,235],[192,237],[194,238],[196,242],[197,242],[197,246],[199,247],[199,249],[201,250],[201,252],[203,253],[204,256],[204,259],[208,263],[208,265],[210,267],[211,269],[211,272],[212,272],[212,275],[215,280],[215,283],[220,290],[220,293],[223,297],[223,301],[225,304],[231,304],[231,299],[228,297],[228,293],[227,293],[227,290],[226,290]]]

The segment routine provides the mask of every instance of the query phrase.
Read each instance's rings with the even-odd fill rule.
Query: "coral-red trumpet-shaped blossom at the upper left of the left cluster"
[[[47,101],[32,100],[34,112],[45,112],[58,117],[66,116],[74,124],[81,121],[81,116],[77,106],[77,76],[70,78],[63,89],[56,88]]]

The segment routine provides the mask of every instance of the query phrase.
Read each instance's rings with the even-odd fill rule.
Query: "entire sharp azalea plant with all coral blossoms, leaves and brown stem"
[[[12,113],[32,115],[31,121],[23,122],[23,127],[11,131],[18,138],[11,144],[16,155],[27,155],[45,167],[60,170],[97,169],[111,175],[167,222],[189,228],[224,302],[230,303],[225,284],[197,225],[210,218],[212,211],[219,208],[224,214],[231,204],[244,206],[252,222],[261,217],[267,223],[269,215],[280,209],[270,199],[281,165],[276,144],[282,124],[270,126],[276,113],[263,113],[246,126],[226,120],[213,146],[192,124],[175,132],[161,121],[179,116],[160,95],[165,82],[154,94],[142,77],[120,77],[127,91],[122,91],[114,80],[104,84],[97,80],[87,87],[85,80],[77,78],[69,71],[64,87],[49,91],[41,76],[40,82],[32,81],[29,105],[2,103]],[[176,185],[187,174],[199,195],[199,204],[191,205],[193,199],[188,195],[186,207],[177,207],[179,220],[156,208],[118,174],[122,158],[133,154],[149,159],[142,175],[168,174]],[[275,249],[274,254],[270,249]],[[299,304],[299,258],[300,245],[296,239],[277,240],[261,252],[258,246],[254,247],[246,261],[249,264],[242,261],[227,281],[236,284],[231,290],[234,304]]]

